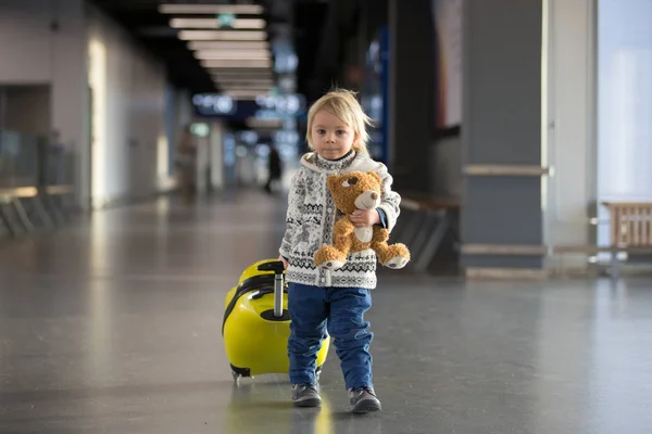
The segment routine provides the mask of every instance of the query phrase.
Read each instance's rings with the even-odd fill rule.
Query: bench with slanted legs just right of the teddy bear
[[[408,245],[414,258],[412,269],[423,272],[430,265],[446,234],[452,232],[456,238],[454,228],[460,201],[414,191],[399,191],[399,194],[402,215],[390,237],[392,241]]]

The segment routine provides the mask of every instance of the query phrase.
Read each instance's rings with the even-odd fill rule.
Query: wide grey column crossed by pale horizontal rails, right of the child
[[[540,0],[466,1],[463,164],[541,164]],[[465,177],[464,244],[542,243],[539,177]],[[465,256],[465,267],[540,268],[541,257]]]

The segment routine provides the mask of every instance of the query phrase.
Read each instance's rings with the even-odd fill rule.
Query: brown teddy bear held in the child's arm
[[[358,228],[350,220],[355,209],[376,209],[380,204],[381,179],[375,171],[352,171],[328,177],[328,190],[335,206],[344,214],[334,227],[333,245],[321,246],[314,255],[317,267],[337,270],[351,253],[372,248],[385,267],[403,268],[410,261],[404,244],[387,244],[389,231],[379,226]]]

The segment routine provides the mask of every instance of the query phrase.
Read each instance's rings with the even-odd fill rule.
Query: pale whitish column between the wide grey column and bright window
[[[543,183],[544,242],[593,242],[590,217],[597,190],[595,0],[544,0]],[[546,35],[547,33],[547,35]],[[547,36],[547,38],[546,38]],[[586,267],[586,255],[565,265]]]

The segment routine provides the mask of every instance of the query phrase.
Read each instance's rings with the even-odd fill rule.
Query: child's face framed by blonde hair
[[[346,155],[358,140],[353,128],[325,110],[315,113],[310,140],[319,156],[337,159]]]

